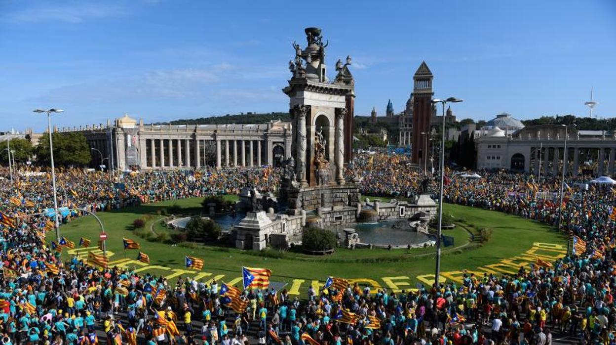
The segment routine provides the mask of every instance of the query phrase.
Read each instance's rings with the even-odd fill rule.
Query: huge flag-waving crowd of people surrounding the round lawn
[[[246,185],[275,191],[277,168],[128,173],[57,172],[59,205],[92,212],[207,194],[238,193]],[[362,193],[409,197],[423,172],[405,156],[356,157],[347,169]],[[227,286],[174,282],[126,268],[62,260],[44,239],[52,207],[50,177],[0,171],[1,344],[551,344],[553,335],[579,343],[615,343],[616,287],[612,189],[524,173],[480,172],[468,179],[447,170],[445,201],[557,222],[577,242],[556,262],[520,267],[515,275],[465,273],[462,283],[391,291],[333,278],[306,296],[268,289],[241,292],[230,304]],[[119,182],[122,185],[114,185]],[[430,191],[436,194],[432,180]],[[38,214],[38,215],[32,215]],[[69,222],[68,214],[62,217]],[[17,219],[12,222],[12,218]]]

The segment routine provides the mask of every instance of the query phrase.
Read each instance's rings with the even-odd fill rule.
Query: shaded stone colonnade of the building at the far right
[[[533,152],[534,149],[534,152]],[[595,151],[595,152],[593,152]],[[596,162],[596,175],[614,176],[614,160],[616,159],[616,148],[580,148],[577,146],[567,148],[565,164],[562,164],[564,159],[564,148],[562,147],[534,147],[530,170],[535,175],[557,175],[561,173],[561,168],[564,168],[565,175],[576,177],[580,173],[580,152],[586,157],[585,160],[593,160]],[[596,157],[595,157],[596,154]],[[549,166],[549,162],[552,165]],[[607,169],[606,169],[607,160]],[[595,165],[593,164],[593,167]]]

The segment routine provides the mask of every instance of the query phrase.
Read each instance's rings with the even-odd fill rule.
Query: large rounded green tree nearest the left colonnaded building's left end
[[[83,167],[92,160],[92,153],[87,144],[86,137],[82,133],[67,132],[54,133],[54,164],[57,167],[70,165]],[[36,160],[40,164],[49,164],[49,136],[47,133],[41,136],[36,146]]]

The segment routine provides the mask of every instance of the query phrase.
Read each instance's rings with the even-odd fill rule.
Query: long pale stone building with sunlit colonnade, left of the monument
[[[92,148],[92,167],[120,170],[277,165],[291,156],[291,123],[144,125],[124,115],[79,131]]]

